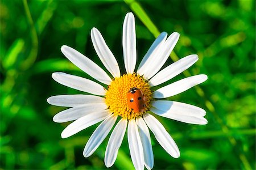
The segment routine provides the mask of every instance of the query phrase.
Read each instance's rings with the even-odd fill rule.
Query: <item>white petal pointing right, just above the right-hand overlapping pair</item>
[[[196,86],[197,84],[203,83],[205,80],[207,80],[207,75],[205,74],[189,76],[167,86],[159,88],[158,90],[153,92],[153,97],[156,99],[171,97],[180,94],[181,92],[184,92],[189,88]]]

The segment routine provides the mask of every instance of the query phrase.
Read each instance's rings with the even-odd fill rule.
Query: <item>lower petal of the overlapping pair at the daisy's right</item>
[[[172,120],[185,122],[188,124],[206,125],[208,123],[204,117],[195,117],[195,116],[189,116],[189,115],[184,115],[184,114],[164,112],[164,111],[161,111],[154,107],[150,108],[150,111],[155,114],[158,114],[159,116],[171,118]]]

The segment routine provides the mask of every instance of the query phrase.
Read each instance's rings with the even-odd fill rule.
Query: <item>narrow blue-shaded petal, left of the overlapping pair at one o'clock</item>
[[[141,63],[139,63],[139,67],[137,70],[137,74],[143,75],[144,73],[147,73],[147,70],[151,67],[151,62],[154,62],[155,55],[158,55],[158,50],[160,47],[164,44],[167,38],[167,33],[162,32],[160,35],[155,39],[153,44],[150,46],[150,49],[148,49],[147,53],[143,57]]]

